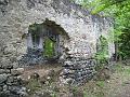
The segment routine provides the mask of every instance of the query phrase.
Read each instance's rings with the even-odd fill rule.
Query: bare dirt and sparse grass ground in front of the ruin
[[[27,68],[22,77],[23,79],[28,80],[34,72],[37,72],[42,78],[52,69],[55,72],[60,72],[62,70],[62,65],[47,65],[42,67],[37,66]],[[58,89],[57,92],[54,89],[53,93],[55,95],[62,94],[62,96],[54,97],[130,97],[130,66],[125,66],[119,63],[116,64],[113,69],[114,70],[112,71],[110,79],[105,81],[92,80],[82,86],[70,87],[53,84],[53,86]],[[43,87],[47,89],[49,86]],[[81,93],[82,96],[80,96],[79,93]],[[72,96],[72,94],[75,95]]]

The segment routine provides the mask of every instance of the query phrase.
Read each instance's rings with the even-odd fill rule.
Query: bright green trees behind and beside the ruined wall
[[[114,19],[116,59],[130,57],[130,0],[74,0],[91,14]]]

